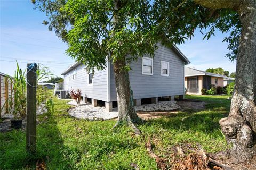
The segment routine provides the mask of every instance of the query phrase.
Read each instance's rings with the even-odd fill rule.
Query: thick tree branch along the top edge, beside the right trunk
[[[239,0],[194,0],[195,3],[211,9],[236,9],[241,1]]]

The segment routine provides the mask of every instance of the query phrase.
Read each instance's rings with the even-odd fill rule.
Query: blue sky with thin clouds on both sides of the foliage
[[[47,19],[45,13],[34,8],[30,0],[0,0],[0,72],[13,75],[17,60],[22,69],[26,63],[36,62],[61,76],[74,59],[65,54],[67,45],[42,24]],[[228,44],[222,43],[226,35],[215,35],[202,40],[204,35],[196,30],[192,40],[178,45],[191,62],[186,66],[204,71],[222,67],[235,72],[236,62],[224,57],[228,53]]]

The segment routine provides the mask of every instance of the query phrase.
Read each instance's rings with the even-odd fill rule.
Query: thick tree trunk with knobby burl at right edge
[[[241,1],[238,8],[242,33],[229,116],[220,120],[231,157],[238,163],[256,154],[256,2]]]

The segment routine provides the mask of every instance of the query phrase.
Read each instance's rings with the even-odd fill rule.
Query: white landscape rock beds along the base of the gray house
[[[117,108],[107,112],[105,107],[93,107],[90,104],[77,105],[76,101],[69,101],[67,104],[77,107],[69,109],[69,115],[86,120],[109,120],[118,117]],[[176,101],[160,101],[157,104],[135,106],[136,111],[173,111],[180,109]]]

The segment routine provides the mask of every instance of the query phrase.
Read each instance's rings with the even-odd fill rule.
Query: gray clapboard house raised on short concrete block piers
[[[155,57],[139,58],[131,64],[129,72],[131,88],[135,105],[141,105],[141,100],[151,100],[157,103],[158,97],[184,95],[184,65],[189,64],[188,58],[176,46],[165,47],[158,45]],[[105,70],[86,72],[86,65],[74,63],[68,67],[64,75],[63,90],[81,89],[83,100],[91,100],[93,106],[98,103],[105,104],[108,111],[116,105],[116,87],[113,65],[107,62]]]

